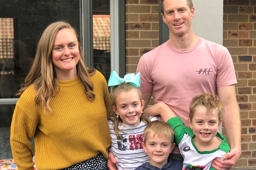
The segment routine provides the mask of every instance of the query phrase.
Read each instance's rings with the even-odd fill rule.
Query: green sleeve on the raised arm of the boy
[[[167,121],[167,124],[169,124],[174,129],[174,140],[177,144],[179,144],[185,134],[185,129],[187,128],[184,126],[183,122],[178,116],[170,118]]]

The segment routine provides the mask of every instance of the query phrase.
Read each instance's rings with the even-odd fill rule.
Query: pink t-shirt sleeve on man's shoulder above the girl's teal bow
[[[150,61],[146,59],[146,55],[144,54],[138,63],[136,74],[140,72],[140,90],[142,93],[148,93],[152,91],[153,88],[153,80],[151,79],[151,68]],[[149,57],[149,56],[148,56]]]

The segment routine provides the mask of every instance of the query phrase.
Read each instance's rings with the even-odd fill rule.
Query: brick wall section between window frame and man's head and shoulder
[[[126,72],[136,72],[140,56],[159,46],[159,1],[126,0]]]

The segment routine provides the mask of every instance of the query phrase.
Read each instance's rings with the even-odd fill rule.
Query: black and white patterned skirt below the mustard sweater
[[[104,158],[102,153],[99,153],[98,155],[94,156],[91,159],[88,159],[86,161],[77,163],[75,165],[72,165],[70,167],[60,169],[60,170],[109,170],[107,166],[107,160]]]

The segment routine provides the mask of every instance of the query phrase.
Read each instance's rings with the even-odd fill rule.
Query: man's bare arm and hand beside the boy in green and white
[[[219,101],[222,104],[223,127],[227,133],[230,152],[221,160],[215,158],[213,167],[216,170],[228,170],[234,166],[241,155],[241,119],[239,106],[236,101],[235,85],[217,88]]]

